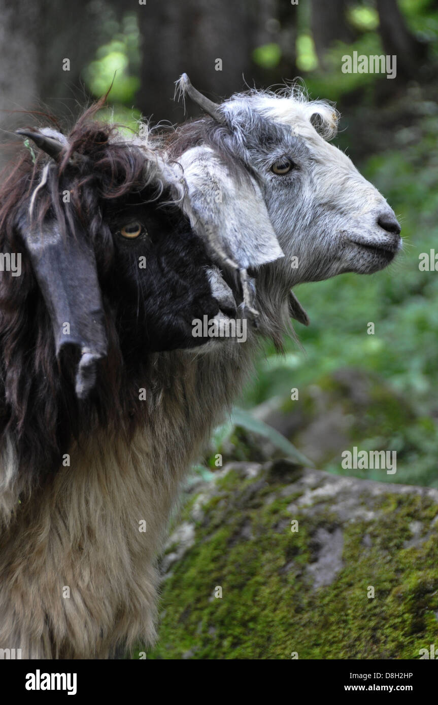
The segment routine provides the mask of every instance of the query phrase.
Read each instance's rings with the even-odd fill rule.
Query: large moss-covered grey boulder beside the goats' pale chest
[[[411,659],[437,643],[437,490],[236,462],[182,519],[147,658]]]

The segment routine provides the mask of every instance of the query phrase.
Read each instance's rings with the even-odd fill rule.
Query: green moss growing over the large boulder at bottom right
[[[262,480],[242,482],[235,470],[219,480],[221,496],[203,508],[195,545],[164,582],[160,639],[147,658],[283,659],[292,651],[299,658],[418,658],[436,641],[437,536],[403,548],[409,523],[427,527],[437,514],[430,498],[384,494],[373,500],[375,520],[341,525],[343,568],[315,590],[307,570],[313,537],[339,527],[339,519],[329,505],[291,515],[299,493],[281,496],[291,477]],[[251,483],[274,501],[248,503]]]

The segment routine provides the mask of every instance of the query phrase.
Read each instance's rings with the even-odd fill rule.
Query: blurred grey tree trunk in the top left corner
[[[32,123],[13,111],[37,109],[61,118],[81,111],[88,97],[81,71],[102,44],[104,12],[89,0],[32,0],[25,9],[16,0],[0,0],[3,128]]]

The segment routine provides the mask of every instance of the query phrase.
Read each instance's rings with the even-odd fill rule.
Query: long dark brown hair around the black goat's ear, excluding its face
[[[50,474],[67,453],[71,436],[92,433],[96,424],[129,433],[145,417],[147,405],[138,402],[140,371],[130,361],[123,364],[121,340],[111,305],[104,300],[108,355],[89,400],[75,396],[73,378],[77,355],[56,351],[47,305],[37,286],[35,271],[18,223],[28,211],[30,198],[49,164],[47,183],[40,190],[32,217],[56,217],[61,229],[83,223],[99,250],[99,281],[104,283],[114,266],[114,243],[109,228],[102,227],[102,204],[121,204],[128,195],[145,197],[145,155],[117,140],[117,128],[95,121],[104,99],[85,111],[68,135],[68,149],[56,164],[43,152],[20,147],[16,159],[4,170],[0,188],[0,251],[20,253],[21,276],[0,273],[0,436],[12,440],[18,467],[39,479]],[[72,154],[86,157],[75,169]],[[32,158],[33,157],[33,158]],[[68,190],[69,207],[61,194]],[[149,197],[156,197],[151,185]],[[147,364],[147,356],[142,364]],[[129,376],[129,381],[127,379]],[[139,379],[136,381],[135,377]],[[38,470],[36,470],[38,469]],[[35,477],[33,477],[35,480]]]

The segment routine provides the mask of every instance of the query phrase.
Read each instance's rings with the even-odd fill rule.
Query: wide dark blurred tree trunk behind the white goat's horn
[[[188,73],[198,90],[217,100],[251,85],[257,71],[251,61],[257,6],[250,1],[186,0],[140,7],[142,70],[137,104],[154,121],[184,117],[174,102],[174,82]],[[244,78],[243,78],[244,77]],[[186,113],[199,115],[186,102]]]

